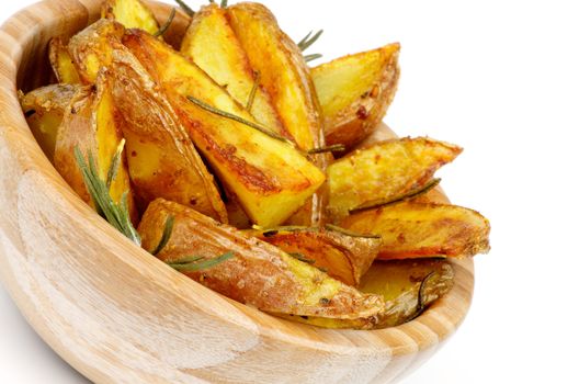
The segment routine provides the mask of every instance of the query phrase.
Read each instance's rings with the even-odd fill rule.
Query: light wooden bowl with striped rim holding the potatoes
[[[164,21],[169,5],[152,4]],[[16,90],[50,80],[50,37],[99,16],[99,0],[46,0],[0,30],[0,276],[38,335],[94,382],[394,383],[464,319],[473,262],[418,319],[326,330],[260,313],[171,270],[78,199],[34,140]],[[169,41],[186,26],[180,14]]]

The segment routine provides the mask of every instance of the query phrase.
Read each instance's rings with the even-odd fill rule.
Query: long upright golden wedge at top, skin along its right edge
[[[283,125],[299,148],[325,145],[320,106],[302,50],[262,4],[241,2],[227,9],[230,25],[261,84],[272,97]]]

